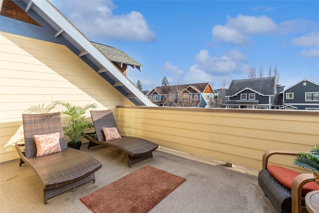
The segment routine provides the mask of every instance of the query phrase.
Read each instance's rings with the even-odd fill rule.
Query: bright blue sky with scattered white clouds
[[[128,78],[143,90],[268,77],[277,66],[286,88],[319,83],[319,1],[50,0],[89,40],[143,65]]]

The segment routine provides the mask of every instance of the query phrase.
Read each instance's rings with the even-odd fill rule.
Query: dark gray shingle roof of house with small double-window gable
[[[256,91],[262,95],[274,95],[276,86],[275,82],[276,77],[232,80],[226,96],[234,96],[246,88]]]

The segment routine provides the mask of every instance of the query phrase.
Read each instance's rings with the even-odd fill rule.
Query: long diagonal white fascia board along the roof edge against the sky
[[[42,10],[48,17],[50,17],[57,25],[59,29],[63,29],[65,33],[69,34],[73,38],[73,42],[79,43],[83,50],[86,50],[91,54],[102,66],[112,73],[119,81],[136,95],[146,106],[155,106],[150,99],[148,99],[129,79],[127,79],[122,72],[120,72],[113,63],[106,58],[97,48],[89,41],[77,28],[69,22],[54,6],[47,0],[32,0],[32,2]],[[80,51],[83,51],[80,50]]]

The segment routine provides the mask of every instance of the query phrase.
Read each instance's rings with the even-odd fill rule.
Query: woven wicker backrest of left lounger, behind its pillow
[[[67,149],[59,113],[22,114],[25,157],[36,156],[34,135],[46,135],[59,132],[61,150]]]

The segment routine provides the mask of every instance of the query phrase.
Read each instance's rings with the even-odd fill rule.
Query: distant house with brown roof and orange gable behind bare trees
[[[210,83],[181,84],[156,87],[147,97],[159,106],[207,108],[214,91]]]

